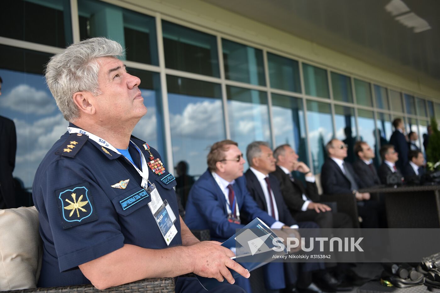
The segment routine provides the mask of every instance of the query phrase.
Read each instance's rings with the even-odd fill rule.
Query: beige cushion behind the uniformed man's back
[[[42,254],[37,209],[0,209],[0,291],[36,288]]]

